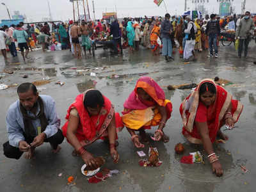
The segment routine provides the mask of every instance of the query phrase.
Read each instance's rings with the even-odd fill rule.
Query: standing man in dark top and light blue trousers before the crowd
[[[172,41],[170,35],[172,34],[172,23],[170,22],[170,14],[165,14],[165,19],[161,23],[160,34],[163,40],[163,56],[166,61],[174,60],[172,58]],[[151,32],[151,31],[150,31]]]

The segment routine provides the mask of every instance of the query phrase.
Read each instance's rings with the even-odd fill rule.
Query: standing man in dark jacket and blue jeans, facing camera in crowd
[[[217,38],[220,35],[220,22],[216,20],[216,15],[211,14],[211,20],[207,23],[205,33],[209,36],[209,47],[210,47],[210,54],[207,56],[211,58],[213,56],[213,49],[214,46],[215,51],[215,58],[218,58],[218,46],[217,46]]]

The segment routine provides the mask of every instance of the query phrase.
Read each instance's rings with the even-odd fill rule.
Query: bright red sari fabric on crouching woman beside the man
[[[104,124],[106,118],[109,117],[109,115],[115,115],[115,121],[116,121],[116,127],[124,127],[122,124],[122,119],[120,118],[119,113],[111,114],[111,109],[113,109],[113,106],[111,105],[110,100],[107,97],[104,97],[104,107],[102,108],[102,113],[97,116],[90,116],[88,111],[84,108],[83,104],[83,97],[84,93],[78,95],[76,97],[76,100],[71,106],[68,108],[67,111],[67,122],[62,127],[63,135],[67,137],[67,127],[68,127],[68,119],[70,116],[70,111],[73,108],[76,108],[79,114],[80,122],[79,126],[76,132],[77,139],[79,141],[88,140],[91,141],[93,138],[95,138],[96,133],[100,131],[102,128],[102,125]],[[109,123],[111,122],[112,118],[109,119]],[[99,121],[99,122],[98,122]],[[107,128],[107,127],[105,127]],[[97,136],[96,136],[97,137]]]

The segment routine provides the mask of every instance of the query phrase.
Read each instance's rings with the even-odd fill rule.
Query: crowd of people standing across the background
[[[3,26],[0,32],[1,52],[6,57],[6,44],[13,57],[17,56],[15,41],[24,60],[29,48],[42,44],[42,49],[70,49],[75,58],[82,58],[82,51],[91,54],[93,42],[100,42],[111,48],[112,54],[122,54],[129,47],[129,52],[138,51],[140,46],[151,49],[154,55],[161,52],[166,61],[173,61],[173,48],[179,47],[180,58],[195,61],[196,52],[208,51],[208,57],[218,58],[218,46],[221,29],[234,33],[239,39],[238,56],[248,53],[248,44],[255,31],[256,18],[250,12],[237,17],[218,17],[216,14],[205,18],[192,19],[190,15],[148,18],[124,18],[123,20],[97,20],[97,22],[73,22],[70,20],[58,24],[27,24]],[[6,33],[4,33],[4,31]],[[82,48],[82,49],[81,49]],[[26,53],[24,54],[24,49]]]

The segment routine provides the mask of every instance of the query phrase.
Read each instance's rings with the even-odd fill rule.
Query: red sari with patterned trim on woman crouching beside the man
[[[107,97],[104,97],[104,107],[102,107],[99,115],[90,116],[86,108],[84,108],[83,100],[84,94],[82,93],[76,97],[76,100],[71,104],[67,111],[67,122],[62,127],[63,136],[67,138],[68,119],[71,109],[76,108],[80,121],[76,132],[76,137],[81,145],[89,145],[99,138],[104,139],[108,136],[108,125],[110,124],[113,116],[115,115],[116,129],[121,131],[124,125],[119,113],[115,113],[114,106],[111,104]]]

